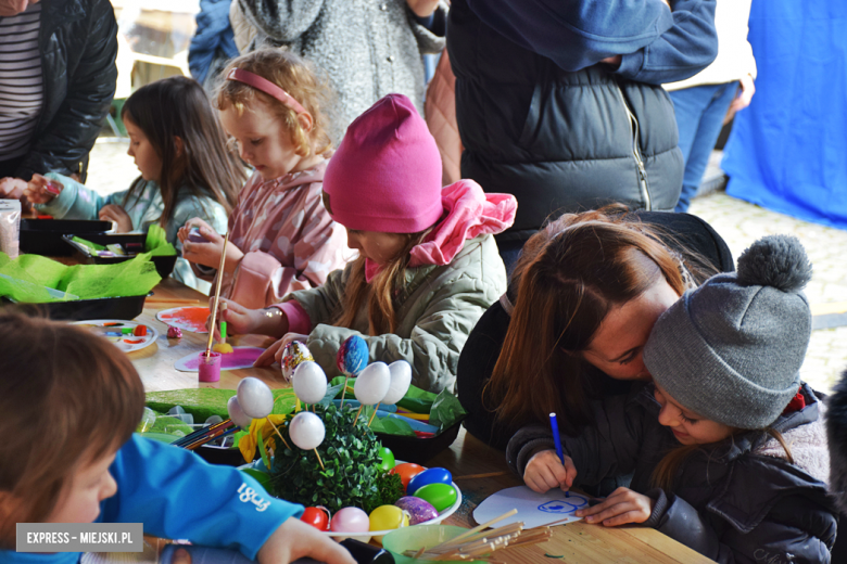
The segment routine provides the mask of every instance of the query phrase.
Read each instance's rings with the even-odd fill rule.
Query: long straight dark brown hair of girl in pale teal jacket
[[[141,129],[162,158],[159,189],[165,207],[160,226],[164,228],[174,216],[182,188],[195,197],[212,197],[227,215],[232,211],[246,175],[227,150],[220,120],[197,80],[174,76],[146,85],[127,99],[121,116]],[[124,207],[134,197],[138,202],[143,185],[141,178],[132,183]]]

